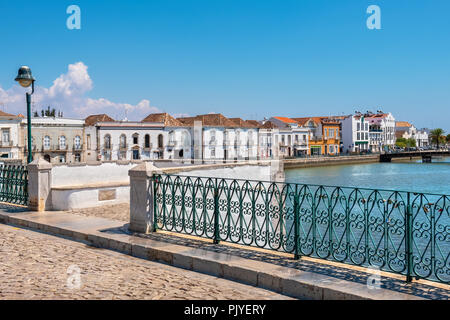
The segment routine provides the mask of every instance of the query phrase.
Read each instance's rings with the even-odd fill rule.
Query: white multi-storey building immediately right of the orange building
[[[343,153],[369,150],[369,122],[362,114],[337,117],[341,121]]]

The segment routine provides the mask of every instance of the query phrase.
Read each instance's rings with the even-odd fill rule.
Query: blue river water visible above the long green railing
[[[286,170],[291,183],[450,194],[450,158]]]

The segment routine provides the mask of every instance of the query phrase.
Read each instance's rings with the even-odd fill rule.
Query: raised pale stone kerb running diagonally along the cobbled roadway
[[[64,236],[138,258],[239,281],[295,298],[318,300],[422,299],[382,288],[371,290],[360,283],[230,254],[193,249],[126,233],[108,233],[105,230],[123,227],[123,223],[104,218],[81,217],[61,212],[14,213],[0,211],[0,222]]]

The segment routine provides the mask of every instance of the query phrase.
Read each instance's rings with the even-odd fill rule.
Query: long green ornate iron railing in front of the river
[[[154,229],[450,280],[450,196],[154,175]]]

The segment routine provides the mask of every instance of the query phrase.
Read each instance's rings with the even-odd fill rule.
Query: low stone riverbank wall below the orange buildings
[[[379,155],[285,159],[284,169],[380,162]]]

